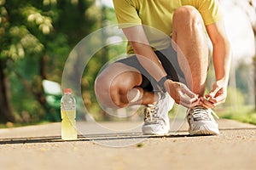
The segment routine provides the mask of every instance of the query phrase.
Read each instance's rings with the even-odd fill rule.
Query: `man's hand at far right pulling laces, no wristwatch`
[[[217,105],[223,104],[227,98],[227,85],[220,80],[214,82],[212,90],[205,98],[201,98],[200,104],[206,108],[214,108]]]

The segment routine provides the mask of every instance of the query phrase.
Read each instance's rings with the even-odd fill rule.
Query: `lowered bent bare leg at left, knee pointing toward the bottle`
[[[139,87],[142,81],[142,75],[135,68],[114,63],[96,78],[96,97],[102,105],[110,108],[153,104],[156,96]],[[138,98],[137,90],[140,95]],[[137,100],[132,101],[134,98]]]

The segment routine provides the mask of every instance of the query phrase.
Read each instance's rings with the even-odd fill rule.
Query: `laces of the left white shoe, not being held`
[[[144,122],[156,123],[159,120],[159,108],[156,105],[148,105],[144,109]]]

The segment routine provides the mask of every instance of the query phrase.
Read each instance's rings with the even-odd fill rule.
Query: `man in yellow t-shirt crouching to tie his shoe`
[[[96,78],[97,99],[107,107],[145,105],[143,133],[169,132],[173,100],[188,108],[189,133],[218,134],[212,108],[224,103],[230,43],[218,0],[113,0],[131,57]],[[160,33],[162,32],[162,33]],[[172,41],[162,36],[172,37]],[[216,81],[205,94],[208,37]]]

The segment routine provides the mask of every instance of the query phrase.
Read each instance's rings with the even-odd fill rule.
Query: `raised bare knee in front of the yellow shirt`
[[[203,24],[199,11],[190,5],[177,8],[173,14],[173,25],[176,26],[196,26]]]

